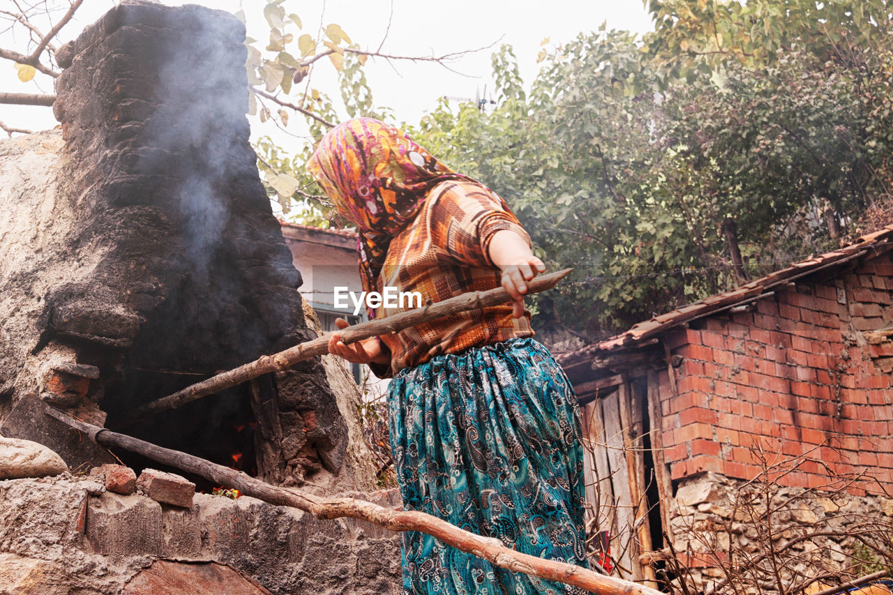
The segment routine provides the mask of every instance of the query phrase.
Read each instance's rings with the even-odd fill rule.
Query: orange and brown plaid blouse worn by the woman
[[[499,230],[513,230],[530,244],[521,223],[488,189],[464,180],[441,182],[431,189],[413,223],[391,240],[377,290],[383,292],[388,286],[401,292],[418,291],[424,304],[428,299],[439,302],[468,291],[497,288],[501,272],[488,251]],[[376,316],[416,306],[408,301],[403,307],[382,306]],[[371,367],[385,378],[433,356],[532,335],[530,312],[513,318],[507,302],[382,335],[381,342],[391,352],[391,365]]]

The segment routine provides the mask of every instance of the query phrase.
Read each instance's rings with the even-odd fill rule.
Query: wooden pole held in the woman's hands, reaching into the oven
[[[536,277],[531,281],[528,281],[527,292],[530,294],[552,289],[558,281],[561,281],[564,275],[569,272],[571,272],[571,269],[564,269],[563,271],[552,272],[547,275],[542,275],[541,277]],[[327,354],[329,353],[329,339],[334,332],[338,332],[338,334],[341,335],[345,344],[353,343],[360,339],[368,339],[369,337],[402,331],[410,326],[427,323],[450,314],[474,310],[485,306],[504,304],[510,299],[508,292],[501,287],[497,289],[489,289],[488,291],[471,291],[469,293],[464,293],[461,296],[456,296],[455,298],[445,299],[442,302],[436,302],[429,304],[428,306],[409,310],[408,312],[394,314],[387,318],[371,320],[368,323],[355,324],[354,326],[341,331],[327,332],[316,339],[305,341],[304,343],[296,345],[293,348],[288,348],[285,351],[280,351],[272,356],[261,356],[254,362],[240,365],[238,368],[233,368],[227,372],[219,373],[207,380],[196,382],[196,384],[192,384],[183,390],[179,390],[168,397],[159,398],[146,403],[146,405],[139,406],[130,412],[129,415],[125,415],[124,418],[118,422],[117,427],[126,428],[149,415],[167,411],[168,409],[176,409],[197,398],[207,397],[208,395],[213,395],[221,390],[230,389],[231,387],[253,378],[257,378],[265,373],[285,370],[289,366],[310,359],[313,356]]]

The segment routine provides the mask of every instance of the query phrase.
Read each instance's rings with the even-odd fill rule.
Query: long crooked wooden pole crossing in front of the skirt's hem
[[[235,469],[216,465],[203,458],[193,457],[184,452],[111,432],[90,423],[79,422],[53,408],[47,408],[47,415],[52,415],[63,423],[76,428],[96,444],[136,452],[164,465],[171,465],[182,471],[195,473],[211,482],[236,488],[246,496],[262,499],[271,504],[299,508],[319,518],[333,519],[343,516],[358,518],[385,527],[390,531],[424,532],[433,535],[447,545],[481,557],[501,568],[531,574],[548,581],[564,582],[589,592],[599,593],[599,595],[663,595],[660,591],[638,585],[635,582],[596,574],[580,566],[522,554],[514,549],[506,548],[502,541],[464,531],[436,516],[412,510],[391,510],[358,499],[321,498],[296,490],[280,488],[256,480]]]

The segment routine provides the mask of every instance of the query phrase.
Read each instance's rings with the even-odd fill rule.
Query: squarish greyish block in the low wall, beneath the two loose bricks
[[[105,556],[161,556],[162,507],[142,496],[105,492],[88,500],[87,539]]]

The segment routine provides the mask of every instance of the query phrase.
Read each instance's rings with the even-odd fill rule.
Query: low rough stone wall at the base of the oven
[[[394,491],[366,496],[399,502]],[[68,473],[0,481],[0,594],[119,593],[159,557],[225,562],[282,595],[400,592],[395,534],[362,521],[244,496],[174,507]]]

